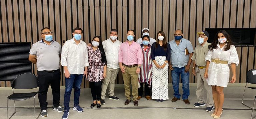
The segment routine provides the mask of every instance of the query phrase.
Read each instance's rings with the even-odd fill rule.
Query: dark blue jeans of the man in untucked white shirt
[[[64,95],[64,110],[69,110],[69,101],[72,88],[74,86],[74,105],[79,105],[80,86],[82,83],[83,74],[71,74],[70,78],[65,78],[65,95]]]

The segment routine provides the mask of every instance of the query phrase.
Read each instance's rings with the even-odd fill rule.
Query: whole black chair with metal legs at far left
[[[16,113],[15,101],[26,100],[26,99],[30,99],[31,97],[34,97],[35,118],[37,119],[39,117],[40,114],[38,115],[38,117],[36,117],[36,113],[35,113],[35,96],[38,93],[38,91],[37,92],[29,92],[29,93],[14,93],[14,91],[13,91],[13,89],[37,88],[38,87],[37,81],[38,81],[38,77],[31,73],[21,74],[12,81],[12,94],[7,97],[7,119],[8,119],[9,100],[13,100],[13,102],[14,102],[14,113],[10,116],[10,118],[11,118]]]

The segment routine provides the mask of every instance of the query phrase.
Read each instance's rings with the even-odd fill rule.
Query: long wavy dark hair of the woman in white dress
[[[224,48],[224,51],[229,50],[230,47],[231,47],[232,44],[233,44],[233,43],[232,43],[232,39],[231,39],[231,37],[230,37],[230,35],[228,34],[227,31],[225,31],[225,30],[220,30],[220,31],[218,31],[218,32],[216,33],[216,35],[215,35],[214,38],[213,38],[213,43],[210,45],[211,51],[213,51],[213,49],[218,49],[217,44],[219,43],[219,41],[218,41],[218,34],[219,34],[219,33],[222,33],[222,34],[224,35],[224,37],[227,38],[227,41],[226,41],[227,46]]]

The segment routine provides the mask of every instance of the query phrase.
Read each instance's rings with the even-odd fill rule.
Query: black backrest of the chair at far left
[[[31,73],[24,73],[12,81],[13,89],[33,89],[38,87],[38,77]]]

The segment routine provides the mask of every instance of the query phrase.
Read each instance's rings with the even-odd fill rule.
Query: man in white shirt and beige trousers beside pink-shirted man
[[[119,72],[119,63],[118,63],[118,52],[120,45],[122,42],[117,40],[117,30],[112,29],[110,32],[110,38],[103,41],[102,45],[105,51],[105,55],[107,58],[107,76],[103,79],[102,82],[102,90],[101,90],[101,104],[105,104],[105,94],[109,84],[109,99],[119,100],[118,97],[115,96],[115,80],[117,74]]]

